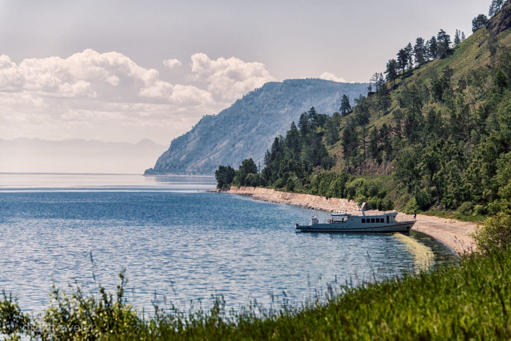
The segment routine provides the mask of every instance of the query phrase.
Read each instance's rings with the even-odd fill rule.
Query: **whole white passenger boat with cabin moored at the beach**
[[[301,232],[408,232],[416,220],[397,221],[398,211],[377,215],[353,215],[347,213],[332,213],[330,219],[319,222],[312,217],[309,225],[296,224]]]

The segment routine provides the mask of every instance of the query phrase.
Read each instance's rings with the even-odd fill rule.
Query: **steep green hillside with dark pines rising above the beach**
[[[379,208],[392,199],[408,211],[511,213],[511,0],[493,0],[489,16],[474,17],[467,38],[440,30],[403,42],[352,112],[319,122],[309,111],[274,139],[260,173],[250,174],[247,154],[236,172],[219,167],[219,187],[272,186]],[[394,187],[385,191],[379,181],[388,177],[354,177],[389,174]]]

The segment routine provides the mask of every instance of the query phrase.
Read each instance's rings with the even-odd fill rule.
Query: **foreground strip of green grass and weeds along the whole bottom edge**
[[[144,319],[124,301],[123,286],[124,277],[115,297],[102,288],[91,297],[80,290],[69,296],[55,290],[43,322],[31,321],[4,296],[0,330],[14,338],[24,330],[42,340],[511,338],[510,252],[472,255],[453,267],[347,286],[340,295],[331,290],[328,303],[316,300],[272,311],[253,304],[227,312],[217,298],[210,310],[155,307],[152,317]]]

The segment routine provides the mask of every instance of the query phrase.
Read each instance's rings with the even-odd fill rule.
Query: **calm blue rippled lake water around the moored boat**
[[[213,177],[0,174],[0,290],[38,312],[53,284],[89,292],[95,274],[114,290],[125,268],[128,299],[146,311],[155,294],[180,307],[212,294],[235,308],[284,295],[300,304],[329,283],[456,259],[419,232],[296,233],[295,222],[328,214],[200,192],[214,187]]]

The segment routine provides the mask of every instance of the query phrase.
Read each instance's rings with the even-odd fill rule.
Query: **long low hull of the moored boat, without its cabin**
[[[415,220],[399,221],[391,224],[364,224],[354,226],[347,222],[317,223],[313,225],[295,225],[300,232],[408,232]]]

